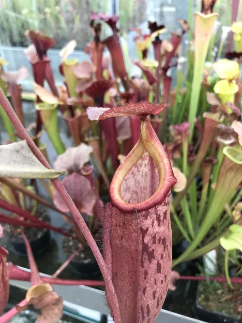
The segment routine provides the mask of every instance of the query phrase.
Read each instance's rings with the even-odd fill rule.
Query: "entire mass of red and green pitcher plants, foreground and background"
[[[34,263],[24,229],[30,226],[78,241],[75,254],[61,270],[90,246],[116,323],[155,322],[168,288],[174,290],[177,279],[206,279],[181,277],[172,267],[206,257],[211,250],[223,251],[220,274],[225,277],[210,279],[225,280],[230,289],[242,282],[238,260],[242,252],[242,23],[233,22],[235,50],[230,46],[221,59],[230,29],[222,33],[218,52],[213,50],[215,2],[202,0],[194,25],[192,15],[189,21],[179,20],[180,30],[171,33],[170,41],[162,39],[165,26],[156,22],[149,22],[149,34],[134,29],[138,61],[132,64],[141,77],[129,74],[128,50],[121,46],[116,15],[91,13],[93,40],[85,49],[90,61],[70,58],[76,40],[61,49],[64,84],[58,88],[48,58],[55,40],[40,31],[26,31],[32,43],[25,55],[32,66],[36,109],[31,127],[25,127],[18,84],[26,77],[26,68],[8,73],[1,68],[0,113],[10,142],[0,146],[0,208],[12,215],[0,214],[0,221],[17,228],[26,244],[32,287],[25,301],[3,314],[0,322],[30,303],[41,309],[39,322],[54,323],[61,317],[62,300],[39,277]],[[109,31],[103,37],[105,24]],[[186,57],[182,57],[186,34]],[[151,46],[153,60],[148,59]],[[1,66],[6,63],[0,60]],[[4,92],[11,96],[13,107]],[[66,121],[74,147],[66,148],[62,142],[58,118]],[[43,128],[58,154],[53,169],[40,141]],[[34,134],[28,133],[33,130]],[[55,206],[36,194],[37,180]],[[39,219],[37,203],[58,210],[70,229]],[[173,260],[172,231],[189,244]],[[103,240],[103,255],[98,239]],[[8,278],[24,274],[7,265],[6,250],[0,252],[3,310]],[[229,266],[235,268],[235,277],[230,277]],[[52,284],[57,279],[53,276]],[[47,296],[50,301],[42,302]]]

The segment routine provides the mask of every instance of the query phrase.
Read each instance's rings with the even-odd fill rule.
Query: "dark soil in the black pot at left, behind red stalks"
[[[12,214],[10,216],[13,216]],[[35,217],[40,220],[49,223],[49,215],[43,207],[38,206]],[[1,224],[3,227],[4,235],[7,236],[12,241],[23,242],[22,233],[19,227],[12,226],[10,224]],[[23,228],[23,231],[29,241],[33,239],[41,238],[42,235],[47,231],[47,229],[36,229],[36,228]]]

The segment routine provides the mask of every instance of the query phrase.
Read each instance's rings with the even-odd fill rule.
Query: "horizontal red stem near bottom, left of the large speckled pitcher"
[[[12,265],[9,279],[13,280],[22,280],[22,281],[30,281],[30,272],[22,270],[15,265]],[[41,276],[41,275],[40,275]],[[74,279],[61,279],[61,278],[53,278],[53,277],[44,277],[41,276],[44,283],[49,283],[51,285],[83,285],[83,286],[103,286],[103,280],[74,280]]]

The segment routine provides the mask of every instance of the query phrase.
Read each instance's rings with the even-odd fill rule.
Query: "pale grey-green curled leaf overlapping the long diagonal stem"
[[[53,179],[64,173],[42,165],[26,140],[0,146],[0,177]]]

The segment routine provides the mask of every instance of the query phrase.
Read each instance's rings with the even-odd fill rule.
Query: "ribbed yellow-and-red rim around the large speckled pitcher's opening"
[[[153,159],[158,173],[159,184],[151,197],[139,203],[127,203],[121,197],[121,185],[128,172],[142,157],[145,150]],[[142,212],[162,204],[172,186],[177,183],[173,174],[169,157],[167,156],[160,140],[156,136],[148,118],[141,121],[141,137],[132,151],[127,155],[116,170],[109,188],[111,203],[123,213]]]

